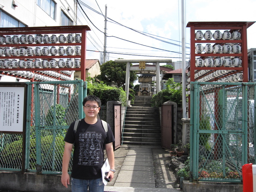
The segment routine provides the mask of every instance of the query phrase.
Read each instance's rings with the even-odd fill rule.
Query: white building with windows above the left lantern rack
[[[0,27],[76,25],[76,0],[1,0]]]

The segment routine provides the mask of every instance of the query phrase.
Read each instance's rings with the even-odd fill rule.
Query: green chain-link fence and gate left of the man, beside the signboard
[[[67,128],[84,117],[82,101],[87,84],[82,80],[26,84],[26,138],[19,134],[1,135],[0,170],[59,173]]]

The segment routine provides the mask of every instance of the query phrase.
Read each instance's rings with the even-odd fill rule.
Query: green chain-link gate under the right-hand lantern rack
[[[241,182],[255,164],[256,83],[191,82],[190,178]]]

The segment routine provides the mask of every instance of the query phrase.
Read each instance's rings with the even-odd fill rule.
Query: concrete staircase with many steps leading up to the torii
[[[136,96],[127,107],[123,144],[161,145],[161,125],[158,108],[150,105],[151,96]]]

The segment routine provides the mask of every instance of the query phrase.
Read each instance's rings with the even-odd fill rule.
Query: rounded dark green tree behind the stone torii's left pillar
[[[132,64],[131,64],[132,66]],[[107,61],[100,66],[100,75],[95,76],[95,79],[103,81],[107,85],[111,85],[112,81],[117,83],[118,87],[124,87],[126,76],[126,64],[115,63],[114,61]],[[133,85],[137,80],[135,71],[130,71],[130,85]]]

